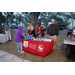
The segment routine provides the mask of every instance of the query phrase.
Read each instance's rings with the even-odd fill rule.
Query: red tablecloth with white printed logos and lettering
[[[51,42],[23,39],[23,51],[28,51],[30,53],[43,57],[48,55],[53,50],[53,46],[53,39],[51,40]]]

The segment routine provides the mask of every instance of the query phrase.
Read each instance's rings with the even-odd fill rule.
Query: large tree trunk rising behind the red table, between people
[[[38,21],[39,14],[40,12],[31,12],[32,15],[31,25],[33,25],[36,35],[37,35],[37,21]]]

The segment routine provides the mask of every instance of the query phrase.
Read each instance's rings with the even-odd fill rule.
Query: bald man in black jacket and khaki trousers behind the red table
[[[59,28],[55,24],[55,20],[51,20],[51,25],[48,27],[47,36],[49,36],[50,39],[54,40],[54,43],[56,43],[57,36],[59,35]]]

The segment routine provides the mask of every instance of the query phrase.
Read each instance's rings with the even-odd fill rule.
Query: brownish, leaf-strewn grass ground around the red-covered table
[[[23,31],[25,34],[27,34],[27,31]],[[67,58],[65,56],[64,50],[61,50],[61,46],[63,44],[63,40],[66,37],[66,32],[60,31],[60,35],[57,38],[57,42],[55,44],[55,49],[46,57],[37,56],[28,52],[25,52],[23,54],[18,53],[17,51],[17,45],[14,41],[14,34],[15,31],[11,30],[11,34],[13,36],[12,41],[0,44],[0,49],[7,51],[9,53],[15,54],[18,57],[33,61],[33,62],[67,62]],[[45,36],[47,38],[47,36]],[[73,60],[69,60],[70,62],[73,62]]]

